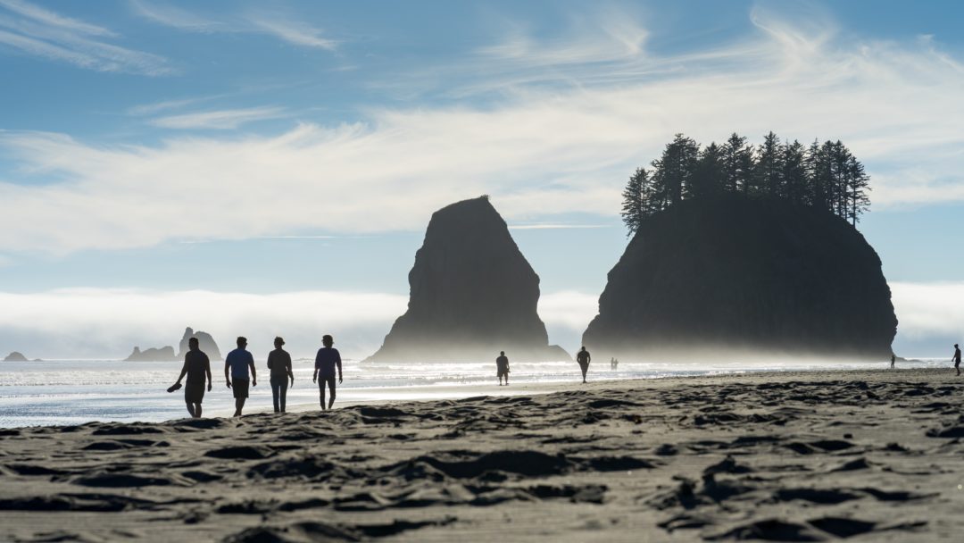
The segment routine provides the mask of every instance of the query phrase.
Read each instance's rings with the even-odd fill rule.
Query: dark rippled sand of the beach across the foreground
[[[0,540],[964,538],[952,369],[564,388],[0,430]]]

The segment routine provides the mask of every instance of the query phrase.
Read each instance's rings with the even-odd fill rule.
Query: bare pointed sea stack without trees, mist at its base
[[[539,276],[487,197],[436,211],[409,272],[409,309],[369,361],[569,360],[536,312]]]

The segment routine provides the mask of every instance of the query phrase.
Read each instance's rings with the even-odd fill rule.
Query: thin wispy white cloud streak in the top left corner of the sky
[[[176,72],[164,57],[114,45],[116,34],[19,0],[0,0],[0,45],[78,68],[142,75]]]

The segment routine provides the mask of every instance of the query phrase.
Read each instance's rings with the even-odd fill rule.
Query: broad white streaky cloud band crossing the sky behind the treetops
[[[612,216],[632,169],[679,131],[703,142],[771,128],[839,138],[868,166],[876,206],[964,200],[964,68],[932,41],[852,41],[758,11],[743,41],[659,56],[641,27],[611,19],[573,37],[575,52],[513,35],[475,51],[470,75],[416,74],[503,95],[484,108],[372,110],[362,122],[156,146],[0,131],[19,166],[0,178],[0,251],[418,230],[433,210],[481,194],[513,222]]]

